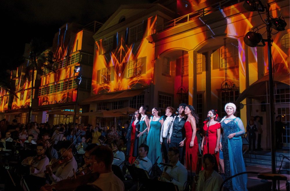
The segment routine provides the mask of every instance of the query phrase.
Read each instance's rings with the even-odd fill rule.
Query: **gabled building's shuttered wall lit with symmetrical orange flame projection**
[[[149,19],[145,31],[151,31],[156,21],[156,17]],[[119,90],[128,90],[141,88],[151,84],[154,65],[148,59],[148,48],[150,47],[146,39],[139,42],[125,43],[126,35],[118,34],[116,49],[106,54],[101,54],[102,40],[96,42],[95,58],[93,65],[92,92],[93,94],[114,92]],[[151,57],[150,57],[151,58]],[[133,70],[130,63],[135,62],[136,67]],[[140,68],[140,70],[139,70]],[[110,80],[105,76],[104,70],[110,70]],[[131,70],[130,70],[131,69]],[[139,72],[136,72],[139,71]],[[131,72],[134,72],[131,76]]]

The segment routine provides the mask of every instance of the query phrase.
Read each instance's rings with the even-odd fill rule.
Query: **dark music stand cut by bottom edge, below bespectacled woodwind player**
[[[166,190],[166,191],[179,191],[178,186],[172,182],[164,182],[154,179],[141,179],[142,184],[148,190]]]

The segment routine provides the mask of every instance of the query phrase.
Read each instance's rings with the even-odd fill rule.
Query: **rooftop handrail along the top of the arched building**
[[[202,17],[202,16],[204,16],[206,14],[209,14],[209,13],[212,13],[214,11],[221,10],[222,9],[222,5],[224,5],[225,3],[228,3],[230,1],[231,0],[223,0],[223,1],[220,1],[220,2],[217,2],[217,3],[214,3],[214,4],[210,5],[210,6],[207,6],[207,7],[204,7],[202,9],[199,9],[199,10],[197,10],[195,12],[191,12],[191,13],[186,14],[184,16],[178,17],[178,18],[176,18],[174,20],[171,20],[171,21],[168,21],[166,23],[163,23],[160,26],[152,28],[151,35],[155,34],[156,32],[162,32],[162,31],[164,31],[164,30],[166,30],[168,28],[180,25],[180,24],[188,22],[190,20],[197,19],[199,17]],[[240,0],[237,0],[237,3],[240,3]],[[208,8],[210,8],[210,9],[208,9]],[[225,7],[223,7],[223,8],[225,8]],[[197,14],[199,14],[199,15],[197,15]]]

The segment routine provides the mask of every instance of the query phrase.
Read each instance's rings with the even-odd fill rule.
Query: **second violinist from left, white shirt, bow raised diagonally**
[[[68,177],[73,176],[73,169],[77,170],[77,162],[73,157],[72,149],[71,149],[71,141],[64,141],[60,145],[60,153],[63,160],[52,159],[52,165],[46,166],[46,170],[49,174],[50,179],[52,180],[52,184],[56,184],[57,182],[66,179]],[[59,164],[59,165],[54,165]],[[51,167],[54,167],[51,169]],[[52,172],[56,172],[53,174]]]

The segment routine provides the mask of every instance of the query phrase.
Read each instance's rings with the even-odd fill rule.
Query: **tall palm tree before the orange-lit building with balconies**
[[[30,107],[28,113],[28,122],[31,121],[32,114],[32,98],[34,90],[34,75],[35,71],[42,74],[43,69],[54,70],[53,68],[53,53],[48,49],[48,45],[41,39],[33,39],[30,42],[30,54],[26,58],[28,66],[25,70],[24,80],[31,80],[31,93],[30,93]]]

